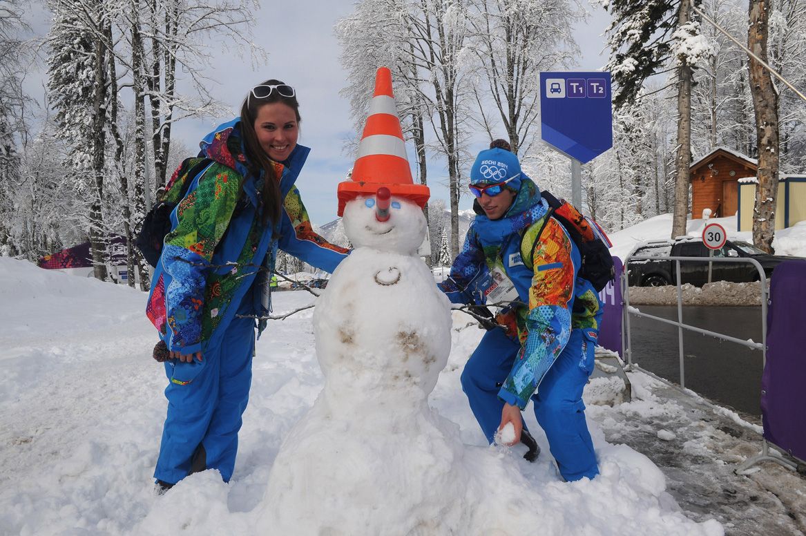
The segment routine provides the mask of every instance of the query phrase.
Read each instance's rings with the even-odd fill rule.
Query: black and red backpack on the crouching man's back
[[[554,197],[547,190],[543,190],[540,195],[548,202],[549,210],[546,213],[546,217],[543,218],[543,224],[540,227],[540,231],[538,231],[538,235],[534,239],[529,257],[530,261],[534,258],[534,250],[538,247],[540,235],[542,235],[543,229],[546,228],[549,217],[553,217],[565,227],[568,235],[571,235],[571,239],[580,250],[582,266],[580,267],[579,276],[590,281],[596,292],[600,292],[616,276],[613,256],[610,255],[609,251],[609,247],[613,247],[610,239],[608,239],[605,231],[602,230],[598,223],[576,210],[571,203]]]

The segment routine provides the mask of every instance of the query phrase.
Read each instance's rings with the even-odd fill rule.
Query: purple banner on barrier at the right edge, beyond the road
[[[806,459],[806,260],[787,260],[772,274],[767,311],[767,364],[761,379],[764,438]]]

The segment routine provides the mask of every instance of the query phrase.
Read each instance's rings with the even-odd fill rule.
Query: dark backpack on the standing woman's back
[[[171,213],[185,198],[193,179],[213,160],[202,156],[186,158],[173,172],[171,180],[156,194],[156,202],[143,218],[143,225],[137,233],[137,249],[148,264],[156,268],[162,254],[165,235],[171,232]]]

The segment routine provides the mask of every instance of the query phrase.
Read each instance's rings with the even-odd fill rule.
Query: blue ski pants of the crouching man
[[[490,330],[473,351],[462,372],[462,389],[481,430],[492,443],[501,425],[504,401],[501,385],[513,368],[521,347],[503,330]],[[565,480],[599,474],[591,434],[585,422],[582,391],[593,372],[596,342],[584,330],[571,330],[571,338],[546,372],[532,396],[534,414],[546,432],[551,455]]]

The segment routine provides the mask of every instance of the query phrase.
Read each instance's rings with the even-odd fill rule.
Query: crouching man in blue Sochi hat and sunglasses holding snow
[[[490,443],[511,423],[509,444],[528,446],[521,411],[531,398],[563,478],[593,478],[599,468],[582,391],[593,370],[602,304],[591,283],[577,276],[575,243],[555,218],[546,219],[540,189],[502,146],[496,140],[473,164],[478,215],[441,284],[455,303],[504,307],[496,317],[503,327],[481,339],[462,372],[462,388]]]

